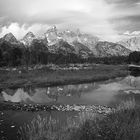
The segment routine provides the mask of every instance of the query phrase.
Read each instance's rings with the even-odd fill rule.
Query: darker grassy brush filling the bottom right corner
[[[75,140],[140,140],[140,108],[134,99],[122,102],[103,119],[86,120],[75,136]]]

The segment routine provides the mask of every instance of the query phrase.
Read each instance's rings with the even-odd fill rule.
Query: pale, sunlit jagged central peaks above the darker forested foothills
[[[88,48],[94,51],[95,53],[95,45],[98,42],[99,38],[90,34],[81,33],[79,30],[70,31],[64,30],[62,32],[58,31],[56,26],[53,26],[45,33],[49,45],[55,44],[58,40],[63,39],[68,42],[70,45],[73,45],[73,42],[77,41]]]

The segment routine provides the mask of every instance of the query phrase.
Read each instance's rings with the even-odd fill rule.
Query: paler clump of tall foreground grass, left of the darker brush
[[[76,121],[68,118],[65,125],[52,117],[38,115],[30,124],[20,128],[21,140],[65,140],[79,127]]]

